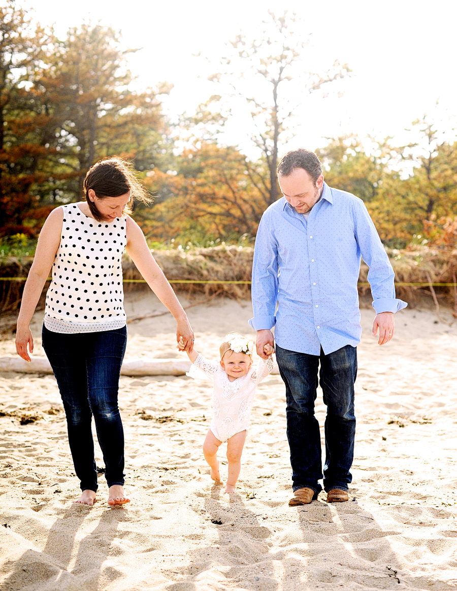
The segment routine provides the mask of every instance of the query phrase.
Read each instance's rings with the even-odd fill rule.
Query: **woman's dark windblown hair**
[[[84,196],[89,206],[90,212],[98,222],[104,221],[95,203],[89,199],[89,189],[95,191],[98,199],[103,197],[120,197],[131,191],[130,201],[124,208],[122,213],[132,213],[132,206],[134,199],[138,199],[143,203],[151,203],[153,200],[145,187],[140,183],[135,176],[133,166],[131,163],[112,156],[105,158],[94,164],[87,171],[84,179]]]

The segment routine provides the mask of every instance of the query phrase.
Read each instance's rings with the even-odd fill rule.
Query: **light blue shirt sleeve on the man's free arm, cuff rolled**
[[[361,201],[354,203],[355,238],[364,261],[370,268],[368,282],[373,297],[372,306],[377,314],[397,312],[408,305],[395,297],[394,269],[390,264],[378,232],[367,207]]]

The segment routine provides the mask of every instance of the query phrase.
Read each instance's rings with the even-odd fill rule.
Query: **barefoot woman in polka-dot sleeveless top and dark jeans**
[[[90,168],[85,201],[50,213],[28,274],[17,323],[16,350],[30,361],[30,321],[52,269],[46,295],[43,349],[56,376],[67,417],[74,470],[93,505],[98,488],[92,415],[105,460],[109,505],[129,502],[124,492],[124,431],[118,409],[119,374],[127,342],[121,258],[124,248],[177,322],[187,351],[193,332],[181,304],[154,261],[144,235],[129,217],[134,199],[149,201],[129,165],[108,158]],[[28,348],[28,350],[27,350]]]

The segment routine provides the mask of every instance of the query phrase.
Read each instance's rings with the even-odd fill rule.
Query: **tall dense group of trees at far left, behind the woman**
[[[139,171],[171,158],[160,95],[135,92],[131,50],[109,27],[84,24],[63,40],[32,29],[14,1],[0,27],[0,232],[36,233],[50,209],[82,196],[87,169],[105,156]]]

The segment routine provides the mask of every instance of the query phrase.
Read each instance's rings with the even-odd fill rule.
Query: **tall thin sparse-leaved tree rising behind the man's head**
[[[303,23],[287,11],[280,17],[271,11],[268,15],[261,37],[239,33],[228,44],[229,54],[221,59],[219,72],[210,77],[226,87],[227,92],[220,95],[241,96],[251,109],[256,130],[251,139],[260,151],[261,168],[266,166],[267,170],[247,165],[252,178],[262,177],[259,187],[263,186],[267,205],[278,199],[278,150],[290,135],[296,102],[350,72],[347,64],[341,66],[338,60],[325,73],[307,71],[304,54],[309,41],[303,39],[298,26]]]

